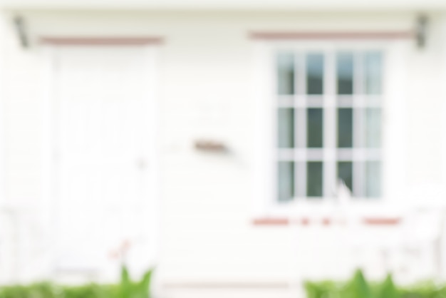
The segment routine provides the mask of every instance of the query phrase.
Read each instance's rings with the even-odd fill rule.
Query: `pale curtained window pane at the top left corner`
[[[294,94],[294,54],[277,55],[277,93]]]

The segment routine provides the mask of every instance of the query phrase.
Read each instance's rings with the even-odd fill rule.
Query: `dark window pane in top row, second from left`
[[[306,93],[323,94],[323,55],[306,55]]]

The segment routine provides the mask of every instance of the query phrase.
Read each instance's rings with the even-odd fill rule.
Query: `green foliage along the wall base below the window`
[[[398,287],[389,274],[383,282],[368,282],[361,270],[348,282],[305,282],[307,298],[442,298],[446,284],[424,282],[412,287]]]

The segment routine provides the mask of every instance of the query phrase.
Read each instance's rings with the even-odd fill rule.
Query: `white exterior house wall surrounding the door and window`
[[[45,140],[41,73],[45,59],[38,36],[153,35],[165,38],[160,46],[157,99],[162,202],[159,279],[169,284],[289,282],[299,274],[341,277],[349,273],[348,268],[340,269],[350,259],[332,230],[336,228],[296,230],[251,224],[254,110],[259,102],[252,92],[254,47],[248,33],[408,30],[415,25],[415,14],[26,11],[32,41],[28,49],[17,44],[7,22],[9,16],[5,15],[6,31],[1,38],[4,173],[6,202],[33,210],[28,211],[30,223],[24,225],[23,237],[26,233],[42,233],[40,239],[51,235],[51,227],[38,217],[51,207],[43,197],[42,185]],[[421,202],[441,199],[445,193],[442,183],[446,172],[441,163],[445,135],[443,36],[442,16],[432,15],[427,48],[419,50],[415,41],[402,48],[406,60],[400,62],[408,72],[407,81],[401,83],[405,90],[401,91],[407,98],[393,106],[393,111],[400,109],[400,118],[388,121],[395,121],[390,128],[393,133],[404,134],[398,138],[403,141],[399,162],[405,170],[398,172],[397,167],[394,173],[398,177],[386,181],[396,185],[391,199],[401,205],[408,199],[406,194]],[[193,148],[197,138],[222,140],[231,153],[199,153]],[[31,227],[42,230],[33,232]],[[373,237],[392,237],[394,232],[393,228],[376,228]],[[26,247],[23,260],[50,251],[44,242],[42,247],[40,244],[37,241]],[[333,248],[336,245],[337,250]],[[5,250],[16,252],[11,247]],[[368,260],[376,263],[371,257]],[[23,262],[16,275],[5,276],[32,279],[48,274],[43,264]],[[296,264],[301,267],[296,268]]]

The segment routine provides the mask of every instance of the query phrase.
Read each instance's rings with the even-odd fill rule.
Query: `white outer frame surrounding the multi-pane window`
[[[254,217],[264,216],[281,216],[281,215],[311,215],[311,214],[331,214],[334,212],[333,202],[334,195],[324,194],[323,200],[302,200],[305,197],[295,197],[290,202],[279,202],[276,195],[276,154],[277,135],[276,135],[276,113],[277,113],[277,95],[276,95],[276,53],[279,51],[293,51],[299,53],[308,52],[323,52],[325,57],[332,56],[330,61],[325,61],[324,67],[330,67],[329,63],[335,63],[335,55],[337,51],[353,51],[353,53],[364,51],[380,51],[383,53],[383,81],[382,90],[383,98],[385,100],[380,104],[381,108],[381,171],[382,171],[382,186],[381,197],[378,199],[363,199],[355,200],[353,205],[355,208],[362,210],[365,213],[378,212],[380,215],[391,212],[393,208],[390,205],[395,205],[394,200],[389,198],[395,195],[403,187],[402,177],[404,174],[403,155],[400,155],[399,150],[403,150],[403,137],[405,135],[405,121],[404,113],[401,113],[401,108],[404,105],[403,86],[405,83],[405,54],[408,53],[409,46],[412,46],[407,40],[318,40],[318,41],[254,41],[254,96],[256,98],[256,122],[255,122],[255,163],[254,163],[254,185],[253,185],[253,206]],[[332,72],[324,69],[324,91],[331,89],[331,96],[323,108],[331,109],[331,115],[328,117],[336,117],[336,66],[332,66]],[[325,93],[325,92],[324,92]],[[294,95],[299,96],[299,95]],[[325,95],[329,97],[328,95]],[[303,101],[295,101],[298,102]],[[300,105],[300,104],[299,104]],[[296,106],[294,106],[296,108]],[[304,108],[304,104],[299,106]],[[354,106],[356,108],[356,106]],[[324,111],[325,112],[325,111]],[[324,116],[326,118],[326,116]],[[389,118],[392,120],[389,121]],[[335,118],[336,119],[336,118]],[[392,122],[390,127],[388,123]],[[334,123],[334,120],[331,120]],[[397,124],[398,123],[398,124]],[[324,130],[326,129],[327,121],[324,121]],[[324,133],[324,158],[331,158],[333,160],[332,166],[329,169],[324,169],[324,189],[326,184],[332,183],[326,180],[326,175],[331,175],[336,178],[336,127],[331,135]],[[329,143],[333,148],[327,148],[325,145],[326,138],[329,138]],[[354,138],[353,138],[353,141]],[[299,158],[299,150],[297,155]],[[353,160],[363,159],[364,152],[357,150]],[[296,152],[294,153],[296,156]],[[304,158],[304,156],[303,156]],[[295,158],[296,159],[296,158]],[[331,171],[331,172],[328,172]],[[392,178],[390,182],[389,178]],[[331,179],[332,180],[332,179]],[[403,195],[401,195],[403,196]],[[391,212],[392,213],[392,212]],[[393,213],[392,213],[393,214]]]

